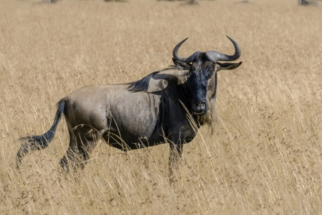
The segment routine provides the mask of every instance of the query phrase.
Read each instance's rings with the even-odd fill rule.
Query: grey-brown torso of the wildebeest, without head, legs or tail
[[[96,138],[102,135],[109,145],[121,150],[162,144],[163,134],[168,137],[173,131],[181,131],[189,141],[194,132],[178,102],[185,101],[184,95],[171,93],[184,87],[177,84],[177,77],[167,74],[174,70],[154,74],[146,92],[133,92],[130,84],[76,90],[64,98],[68,127],[76,127],[74,133],[86,133],[87,140],[98,133]]]

